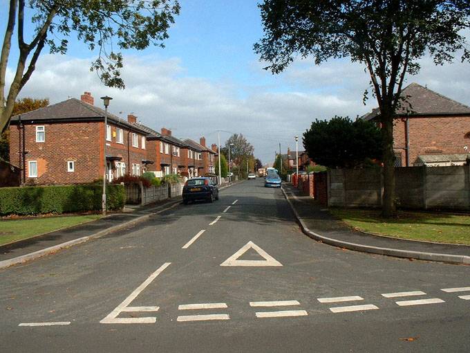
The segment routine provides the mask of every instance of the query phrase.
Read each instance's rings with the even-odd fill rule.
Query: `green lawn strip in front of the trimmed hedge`
[[[60,216],[33,219],[2,219],[0,220],[0,245],[17,240],[34,237],[60,228],[94,221],[101,215]]]

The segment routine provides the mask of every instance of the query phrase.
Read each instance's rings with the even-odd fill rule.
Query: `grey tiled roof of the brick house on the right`
[[[402,90],[402,97],[405,100],[397,108],[397,116],[470,114],[470,107],[467,105],[442,96],[442,94],[414,82]],[[375,108],[370,113],[362,116],[361,119],[372,120],[379,115],[380,109]]]

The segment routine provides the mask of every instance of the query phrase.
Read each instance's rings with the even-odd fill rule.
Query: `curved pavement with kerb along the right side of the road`
[[[326,244],[355,251],[407,257],[417,260],[470,264],[470,246],[419,242],[371,235],[353,230],[333,217],[325,206],[303,196],[292,183],[284,183],[283,190],[304,233]]]

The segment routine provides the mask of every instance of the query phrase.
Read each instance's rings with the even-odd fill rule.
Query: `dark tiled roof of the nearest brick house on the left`
[[[13,123],[19,121],[21,116],[22,121],[81,121],[81,120],[102,120],[104,119],[105,111],[101,108],[89,105],[82,102],[77,98],[70,98],[55,105],[48,105],[44,108],[28,111],[28,113],[13,116],[11,121]],[[126,120],[108,113],[108,120],[117,125],[122,125],[127,128],[135,129],[137,125],[128,123]],[[147,133],[144,129],[138,127],[142,133]]]

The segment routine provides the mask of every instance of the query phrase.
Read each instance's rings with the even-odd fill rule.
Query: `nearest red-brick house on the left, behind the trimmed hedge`
[[[10,162],[22,170],[21,183],[88,183],[124,174],[140,175],[147,167],[147,132],[94,106],[91,93],[26,114],[10,123]],[[135,118],[135,117],[134,117]]]

